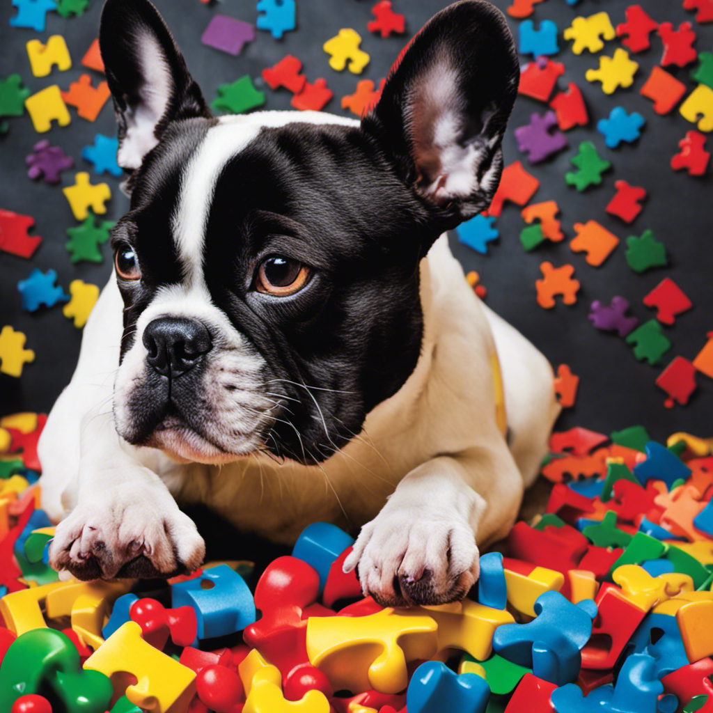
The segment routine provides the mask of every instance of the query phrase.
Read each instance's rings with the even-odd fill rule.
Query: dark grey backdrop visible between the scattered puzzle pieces
[[[385,76],[406,40],[417,31],[429,17],[447,3],[442,0],[394,0],[394,9],[406,15],[407,36],[381,39],[369,33],[366,23],[371,19],[372,0],[298,0],[298,29],[287,33],[281,41],[263,31],[257,31],[257,39],[250,43],[237,58],[215,51],[200,43],[202,31],[216,12],[245,21],[255,21],[254,0],[225,0],[203,5],[198,0],[156,0],[156,5],[165,16],[175,37],[185,53],[188,67],[203,88],[207,101],[212,101],[217,87],[232,82],[244,74],[256,79],[262,88],[260,72],[271,66],[285,54],[291,53],[304,63],[309,81],[317,77],[327,79],[334,91],[334,99],[326,111],[347,113],[339,106],[342,96],[351,94],[356,82],[370,78],[375,82]],[[509,0],[496,0],[496,5],[505,9]],[[602,223],[620,237],[622,243],[627,235],[641,235],[652,228],[657,237],[667,245],[671,265],[665,270],[654,270],[645,275],[636,275],[625,262],[623,245],[600,268],[590,267],[583,255],[575,255],[568,247],[568,240],[558,245],[544,246],[533,253],[525,253],[520,247],[518,235],[523,227],[519,210],[508,205],[497,225],[501,238],[491,243],[487,256],[478,255],[468,247],[459,245],[451,235],[453,250],[466,270],[478,270],[483,284],[488,288],[486,301],[493,309],[518,327],[529,339],[545,352],[556,366],[566,362],[575,374],[581,377],[580,392],[574,409],[565,412],[561,428],[573,425],[587,426],[605,432],[631,424],[645,424],[658,438],[679,429],[699,434],[709,432],[709,413],[713,403],[713,384],[699,375],[699,390],[687,407],[665,409],[665,394],[657,389],[654,379],[663,366],[675,355],[692,359],[706,341],[707,330],[712,329],[709,319],[710,274],[713,265],[710,256],[710,201],[713,183],[712,170],[704,178],[691,178],[685,173],[674,173],[669,161],[677,153],[677,143],[687,130],[694,128],[678,111],[670,116],[658,116],[652,103],[639,95],[638,90],[660,61],[661,43],[652,37],[652,48],[633,55],[640,63],[635,84],[627,90],[618,90],[612,96],[602,93],[598,83],[585,81],[588,68],[598,66],[596,56],[588,52],[581,56],[571,53],[570,42],[562,39],[562,31],[571,20],[580,14],[588,16],[606,10],[616,26],[624,20],[625,0],[582,0],[570,7],[565,0],[548,0],[535,6],[533,19],[553,19],[560,29],[560,54],[566,74],[560,79],[563,87],[574,81],[582,89],[590,110],[588,127],[568,132],[570,148],[553,160],[530,167],[518,153],[512,130],[528,123],[530,113],[545,111],[537,101],[521,96],[515,106],[510,130],[506,138],[506,163],[518,158],[540,180],[540,189],[533,202],[555,199],[562,211],[563,230],[568,238],[573,237],[573,224],[593,219]],[[694,15],[682,9],[682,0],[642,0],[642,6],[657,21],[671,21],[675,26],[682,21],[691,21],[698,34],[699,51],[713,47],[713,24],[699,25]],[[12,29],[9,17],[14,9],[9,1],[0,5],[0,77],[18,72],[31,91],[39,91],[53,83],[68,88],[82,73],[91,73],[95,82],[101,78],[95,72],[83,68],[81,58],[96,37],[101,2],[94,0],[90,9],[81,18],[65,20],[55,13],[48,14],[46,31],[37,34],[29,29]],[[519,21],[509,19],[517,37]],[[353,27],[362,38],[362,48],[371,55],[371,63],[361,76],[337,73],[327,64],[327,55],[322,44],[337,34],[342,27]],[[70,47],[73,68],[70,71],[53,71],[46,78],[31,75],[25,43],[39,36],[46,39],[52,34],[62,34]],[[607,42],[602,53],[611,55],[619,41]],[[523,57],[523,64],[529,58]],[[670,71],[685,81],[689,88],[694,83],[689,71],[695,65]],[[291,94],[286,90],[267,92],[267,109],[289,108]],[[645,116],[647,125],[642,138],[635,145],[622,145],[617,150],[608,150],[604,138],[595,130],[597,120],[608,116],[614,106],[624,106],[627,111],[638,111]],[[61,193],[59,186],[34,183],[26,176],[24,159],[32,146],[41,138],[48,138],[53,145],[60,145],[71,154],[76,169],[63,174],[62,185],[74,183],[78,170],[88,170],[92,183],[106,181],[111,185],[113,198],[108,213],[103,219],[116,220],[128,207],[127,199],[118,190],[118,180],[111,176],[99,177],[91,165],[81,158],[84,146],[93,142],[96,133],[113,135],[114,120],[111,102],[105,106],[95,123],[76,116],[70,109],[72,122],[66,128],[52,128],[38,135],[32,128],[29,116],[10,118],[9,133],[0,137],[0,207],[15,212],[33,215],[36,234],[43,237],[43,244],[34,257],[27,261],[11,255],[0,254],[0,326],[11,324],[25,332],[27,347],[34,349],[34,364],[25,367],[20,379],[0,374],[0,414],[22,409],[46,411],[65,386],[72,374],[78,354],[81,332],[73,327],[71,320],[63,317],[61,306],[41,308],[34,314],[21,309],[20,295],[16,284],[24,279],[34,267],[41,270],[53,268],[58,273],[58,282],[65,289],[72,279],[103,284],[111,270],[108,245],[103,246],[106,256],[102,265],[79,263],[72,265],[66,251],[67,227],[76,221]],[[614,169],[605,174],[604,183],[586,193],[577,193],[565,184],[564,174],[570,170],[569,158],[576,153],[581,140],[590,139],[597,145],[600,155],[610,160]],[[713,143],[709,141],[709,145]],[[710,146],[709,146],[710,148]],[[615,180],[623,178],[632,185],[640,185],[649,192],[645,209],[632,226],[627,226],[608,215],[605,205],[614,194]],[[555,265],[570,262],[576,268],[576,277],[583,288],[574,307],[558,304],[545,311],[535,302],[535,279],[540,277],[539,265],[550,260]],[[642,305],[641,299],[660,280],[672,277],[694,302],[694,309],[677,319],[673,328],[665,328],[674,344],[658,367],[642,364],[634,358],[630,347],[622,339],[598,332],[587,319],[589,304],[594,299],[608,302],[615,294],[630,300],[633,312],[642,321],[652,316],[652,310]],[[113,365],[107,365],[108,369]]]

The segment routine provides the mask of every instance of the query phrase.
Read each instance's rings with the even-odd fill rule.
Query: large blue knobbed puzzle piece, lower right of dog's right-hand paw
[[[535,614],[538,616],[528,624],[498,627],[493,648],[545,681],[558,686],[574,682],[582,666],[580,652],[592,634],[597,605],[590,599],[573,605],[559,592],[545,592],[535,602]]]

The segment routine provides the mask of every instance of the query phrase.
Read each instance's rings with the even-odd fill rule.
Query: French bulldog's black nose
[[[159,317],[143,332],[146,361],[161,376],[175,379],[193,368],[213,346],[205,324],[185,317]]]

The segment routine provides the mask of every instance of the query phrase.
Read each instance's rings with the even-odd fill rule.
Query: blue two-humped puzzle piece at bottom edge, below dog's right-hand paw
[[[485,713],[490,686],[476,673],[460,676],[440,661],[421,664],[406,690],[409,713]]]

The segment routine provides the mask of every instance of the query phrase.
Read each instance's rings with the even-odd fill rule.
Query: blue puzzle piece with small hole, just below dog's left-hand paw
[[[171,600],[173,607],[193,607],[199,639],[235,634],[255,622],[255,600],[245,580],[228,565],[171,585]]]

